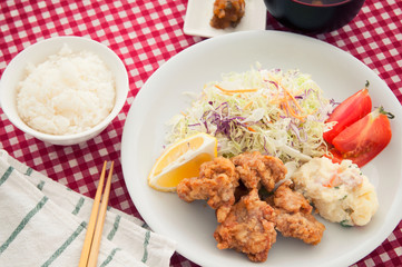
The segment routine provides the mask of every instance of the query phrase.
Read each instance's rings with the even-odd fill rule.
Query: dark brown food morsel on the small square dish
[[[236,27],[244,16],[245,6],[244,0],[215,0],[209,24],[216,29]]]

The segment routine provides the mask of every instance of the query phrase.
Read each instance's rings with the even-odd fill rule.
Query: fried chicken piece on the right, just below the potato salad
[[[283,182],[269,202],[277,214],[275,227],[283,236],[298,238],[312,245],[321,241],[325,226],[314,218],[313,207],[307,199],[292,190],[291,181]]]

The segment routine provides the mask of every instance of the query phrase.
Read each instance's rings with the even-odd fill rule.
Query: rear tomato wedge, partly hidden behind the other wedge
[[[333,128],[325,131],[324,139],[332,144],[332,140],[346,127],[360,120],[371,111],[371,97],[366,88],[355,92],[341,102],[325,122],[336,122]]]

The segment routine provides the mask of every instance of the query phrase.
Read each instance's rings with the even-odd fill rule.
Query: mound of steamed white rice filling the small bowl
[[[45,62],[27,67],[18,85],[17,109],[31,128],[50,135],[86,131],[115,106],[112,73],[89,51],[72,52],[65,44]]]

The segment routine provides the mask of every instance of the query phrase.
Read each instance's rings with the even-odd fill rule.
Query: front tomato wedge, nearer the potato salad
[[[391,141],[392,132],[388,113],[378,108],[339,134],[332,141],[343,159],[351,159],[363,167],[378,156]]]

